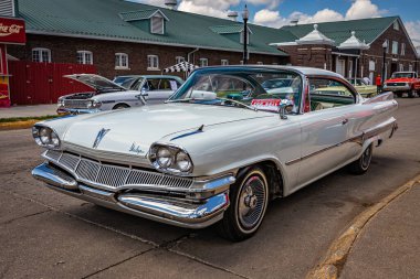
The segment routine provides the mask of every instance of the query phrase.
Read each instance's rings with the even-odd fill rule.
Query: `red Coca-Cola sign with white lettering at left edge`
[[[24,44],[25,42],[23,20],[0,18],[0,43]]]

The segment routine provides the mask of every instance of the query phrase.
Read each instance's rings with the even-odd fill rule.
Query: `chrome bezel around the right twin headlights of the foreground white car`
[[[170,154],[170,163],[164,164],[162,161],[159,160],[158,153],[168,151]],[[180,168],[177,162],[177,158],[180,157],[183,161],[188,161],[189,168]],[[180,175],[180,176],[189,176],[193,171],[193,163],[190,154],[182,147],[177,144],[168,144],[168,143],[154,143],[150,147],[149,151],[149,160],[156,170]]]

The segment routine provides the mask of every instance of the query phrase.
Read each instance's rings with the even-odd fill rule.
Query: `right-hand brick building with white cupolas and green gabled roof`
[[[386,78],[397,71],[419,68],[416,47],[399,17],[288,25],[281,31],[288,37],[274,45],[290,55],[292,65],[370,81],[381,75],[384,55]]]

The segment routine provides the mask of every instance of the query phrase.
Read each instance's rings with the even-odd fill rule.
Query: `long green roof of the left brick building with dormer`
[[[166,33],[150,34],[120,18],[143,11],[145,15],[159,9],[168,19]],[[240,25],[230,20],[175,11],[123,0],[19,0],[19,13],[27,22],[28,33],[70,35],[127,42],[180,45],[241,52],[243,45],[210,26]],[[287,55],[270,43],[290,36],[279,29],[249,24],[253,34],[249,51]]]

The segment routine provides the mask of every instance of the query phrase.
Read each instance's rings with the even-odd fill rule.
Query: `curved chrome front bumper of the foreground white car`
[[[208,185],[217,185],[224,192],[216,191],[217,194],[206,200],[188,201],[140,192],[99,190],[77,182],[70,174],[48,163],[33,169],[32,176],[67,195],[119,212],[187,228],[202,228],[220,221],[229,206],[229,185],[234,182],[233,176],[208,181]],[[211,191],[214,191],[214,187]]]

